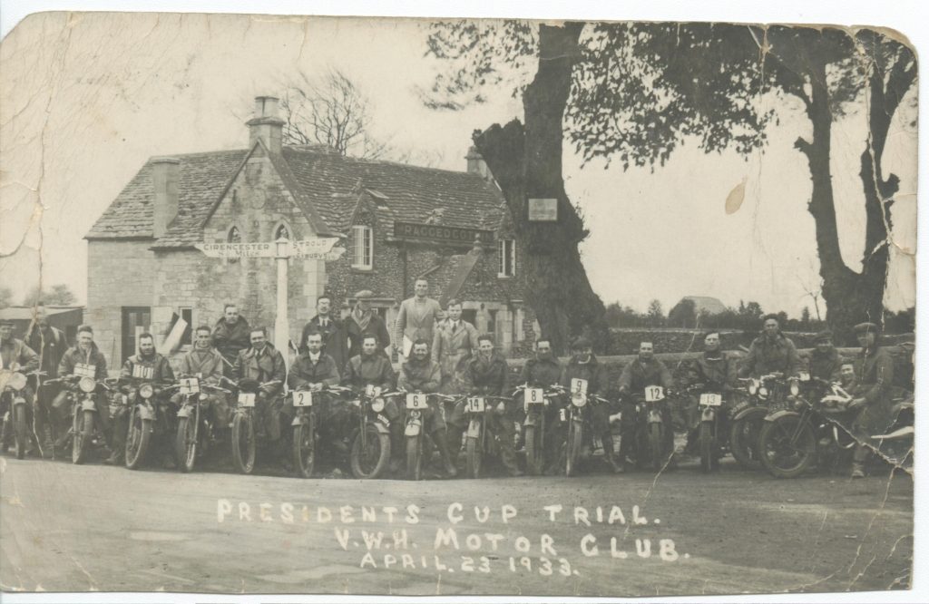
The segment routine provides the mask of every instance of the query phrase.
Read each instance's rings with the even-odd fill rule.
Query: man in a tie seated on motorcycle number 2
[[[309,390],[311,392],[320,392],[325,387],[338,386],[339,372],[336,369],[334,359],[322,351],[322,333],[320,331],[307,332],[307,338],[302,343],[304,351],[294,360],[294,364],[287,374],[287,386],[291,390]],[[336,397],[321,397],[317,399],[313,396],[312,413],[320,420],[318,431],[325,440],[330,442],[340,442],[338,437],[345,434],[345,430],[340,429],[345,426],[345,410],[340,404],[341,401]],[[294,418],[294,407],[284,405],[284,414],[289,420]],[[342,446],[345,452],[347,447]],[[321,453],[321,452],[320,452]]]

